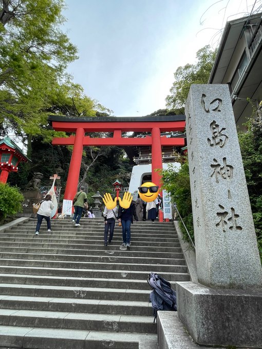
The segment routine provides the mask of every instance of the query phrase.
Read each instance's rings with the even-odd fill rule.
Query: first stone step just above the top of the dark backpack
[[[72,262],[72,261],[45,261],[36,259],[0,259],[0,268],[2,266],[29,266],[29,267],[44,267],[44,268],[68,268],[68,269],[103,269],[103,270],[134,270],[143,272],[144,270],[161,269],[161,273],[186,273],[186,265],[170,265],[170,264],[145,264],[145,263],[117,263],[114,258],[108,262]]]

